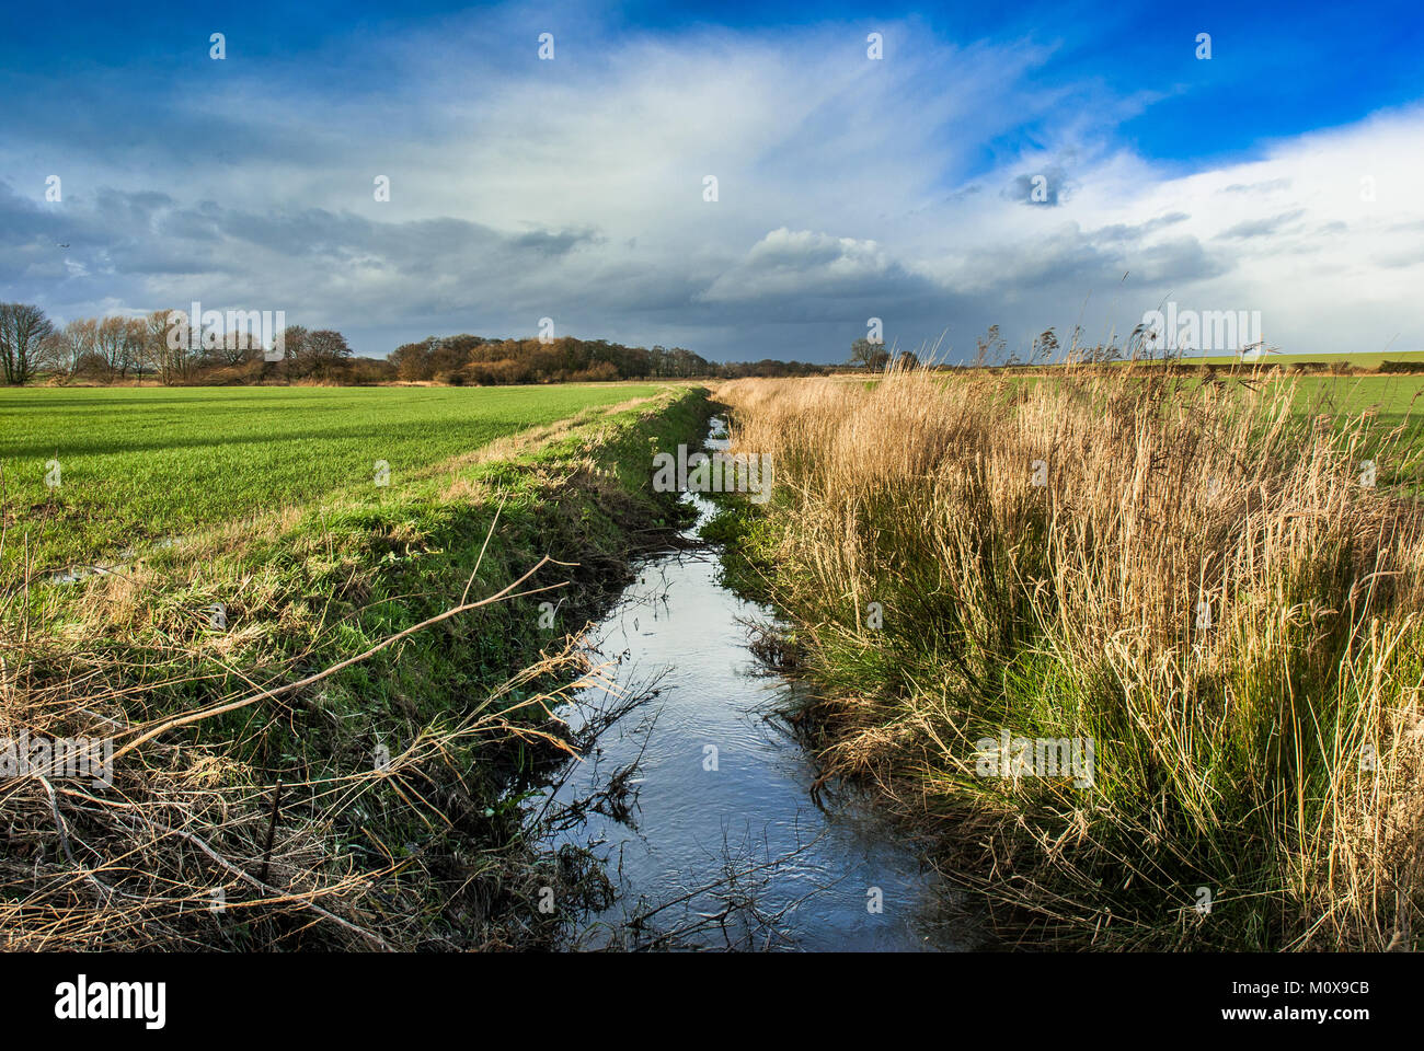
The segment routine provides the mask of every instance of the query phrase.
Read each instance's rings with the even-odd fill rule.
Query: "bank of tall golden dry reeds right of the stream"
[[[716,397],[775,457],[718,530],[795,625],[827,773],[931,833],[1004,937],[1418,947],[1408,426],[1126,373]]]

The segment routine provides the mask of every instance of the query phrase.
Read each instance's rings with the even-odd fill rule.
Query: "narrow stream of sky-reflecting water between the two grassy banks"
[[[701,524],[711,504],[685,498]],[[611,909],[585,917],[572,947],[980,944],[967,926],[940,919],[941,889],[854,792],[823,790],[817,807],[816,770],[776,716],[800,686],[768,675],[748,649],[746,621],[765,622],[770,610],[718,582],[716,550],[671,551],[634,568],[592,648],[622,691],[652,685],[655,695],[607,728],[553,790],[554,805],[568,805],[600,789],[607,800],[609,782],[622,786],[555,840],[592,842],[619,890]]]

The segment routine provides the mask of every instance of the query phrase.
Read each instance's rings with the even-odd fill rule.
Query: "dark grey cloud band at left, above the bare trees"
[[[510,275],[547,272],[597,242],[588,229],[503,234],[453,218],[376,222],[316,208],[177,206],[165,194],[108,188],[88,202],[46,204],[0,184],[7,295],[57,309],[115,298],[131,309],[189,298],[272,302],[302,288],[303,303],[323,318],[339,312],[360,326],[402,306],[457,309],[481,299],[476,288],[513,291],[520,278]],[[384,286],[353,296],[352,268],[382,275]]]

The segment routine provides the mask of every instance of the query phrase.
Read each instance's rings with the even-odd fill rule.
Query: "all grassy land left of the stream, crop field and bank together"
[[[555,813],[525,807],[525,789],[567,756],[548,729],[591,674],[574,637],[631,582],[634,554],[685,521],[649,456],[705,433],[703,394],[0,393],[4,716],[112,738],[117,756],[112,785],[84,782],[112,790],[94,816],[53,789],[83,859],[37,802],[47,780],[0,778],[10,840],[46,843],[40,864],[0,873],[0,947],[561,944],[580,887],[605,882],[591,854],[553,853]],[[43,567],[128,571],[19,587],[16,553],[41,524]],[[103,554],[124,547],[140,557]],[[279,829],[263,819],[278,796]],[[278,829],[275,847],[259,829]],[[251,894],[242,873],[269,853],[281,887]],[[77,899],[70,863],[122,893]],[[547,914],[530,904],[545,884],[561,903]],[[214,887],[241,921],[214,920]]]

